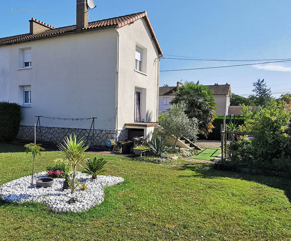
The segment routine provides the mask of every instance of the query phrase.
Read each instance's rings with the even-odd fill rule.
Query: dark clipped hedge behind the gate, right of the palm
[[[236,125],[242,125],[245,122],[245,117],[236,117]],[[225,123],[229,123],[229,117],[225,118]],[[233,117],[232,117],[232,123],[233,123]],[[204,135],[198,135],[198,139],[206,139],[206,140],[218,140],[220,141],[220,124],[223,124],[223,116],[220,115],[217,118],[214,119],[212,122],[214,125],[214,128],[212,129],[212,132],[210,132],[207,137]]]

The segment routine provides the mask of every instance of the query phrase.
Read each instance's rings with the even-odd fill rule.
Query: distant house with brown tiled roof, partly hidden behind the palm
[[[159,112],[167,113],[167,109],[169,108],[169,102],[175,97],[175,93],[177,92],[177,88],[182,86],[181,82],[177,82],[177,86],[163,86],[160,87],[159,93]],[[219,85],[215,83],[214,85],[207,85],[207,87],[213,91],[213,97],[215,99],[215,103],[217,103],[217,108],[215,110],[217,115],[223,115],[226,112],[228,115],[228,109],[230,105],[231,98],[231,89],[230,84],[226,83],[225,85]]]

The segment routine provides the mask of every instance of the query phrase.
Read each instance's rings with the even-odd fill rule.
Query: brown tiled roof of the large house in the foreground
[[[88,23],[87,28],[82,28],[81,30],[76,30],[76,25],[71,25],[71,26],[67,26],[67,27],[60,27],[60,28],[53,28],[53,29],[45,30],[41,33],[37,33],[37,34],[33,34],[33,35],[31,35],[30,33],[25,33],[25,34],[20,34],[20,35],[16,35],[16,36],[0,38],[0,45],[8,45],[8,44],[12,44],[12,43],[26,42],[26,41],[49,38],[49,37],[54,37],[54,36],[59,36],[59,35],[64,35],[64,34],[69,34],[69,33],[75,33],[75,32],[78,33],[81,31],[97,30],[97,29],[110,28],[110,27],[112,27],[112,28],[119,27],[120,28],[120,27],[123,27],[129,23],[133,23],[134,21],[141,19],[141,18],[145,19],[147,26],[150,29],[152,39],[155,41],[155,43],[157,45],[158,52],[160,55],[163,55],[163,52],[160,48],[157,37],[153,31],[153,27],[150,24],[149,18],[147,17],[147,11],[90,22],[90,23]],[[32,20],[34,20],[34,19],[32,19]]]

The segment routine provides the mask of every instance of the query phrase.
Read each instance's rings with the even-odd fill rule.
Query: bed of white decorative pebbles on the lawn
[[[47,177],[47,172],[39,172],[34,175],[34,183],[37,179]],[[44,202],[54,211],[86,211],[104,201],[105,186],[112,186],[124,181],[122,177],[97,176],[92,179],[89,174],[77,172],[76,179],[81,183],[86,183],[88,189],[80,190],[77,187],[75,193],[71,194],[70,189],[62,191],[64,178],[54,178],[51,187],[36,187],[30,185],[31,176],[21,177],[0,186],[2,200],[7,202]],[[77,199],[75,203],[69,203],[71,198]]]

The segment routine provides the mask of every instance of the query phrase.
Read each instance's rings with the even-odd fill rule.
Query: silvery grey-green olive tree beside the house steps
[[[186,105],[184,102],[171,105],[168,109],[168,115],[157,128],[157,133],[162,136],[175,136],[175,147],[179,137],[191,139],[194,142],[197,140],[198,120],[196,118],[189,119],[185,114]]]

